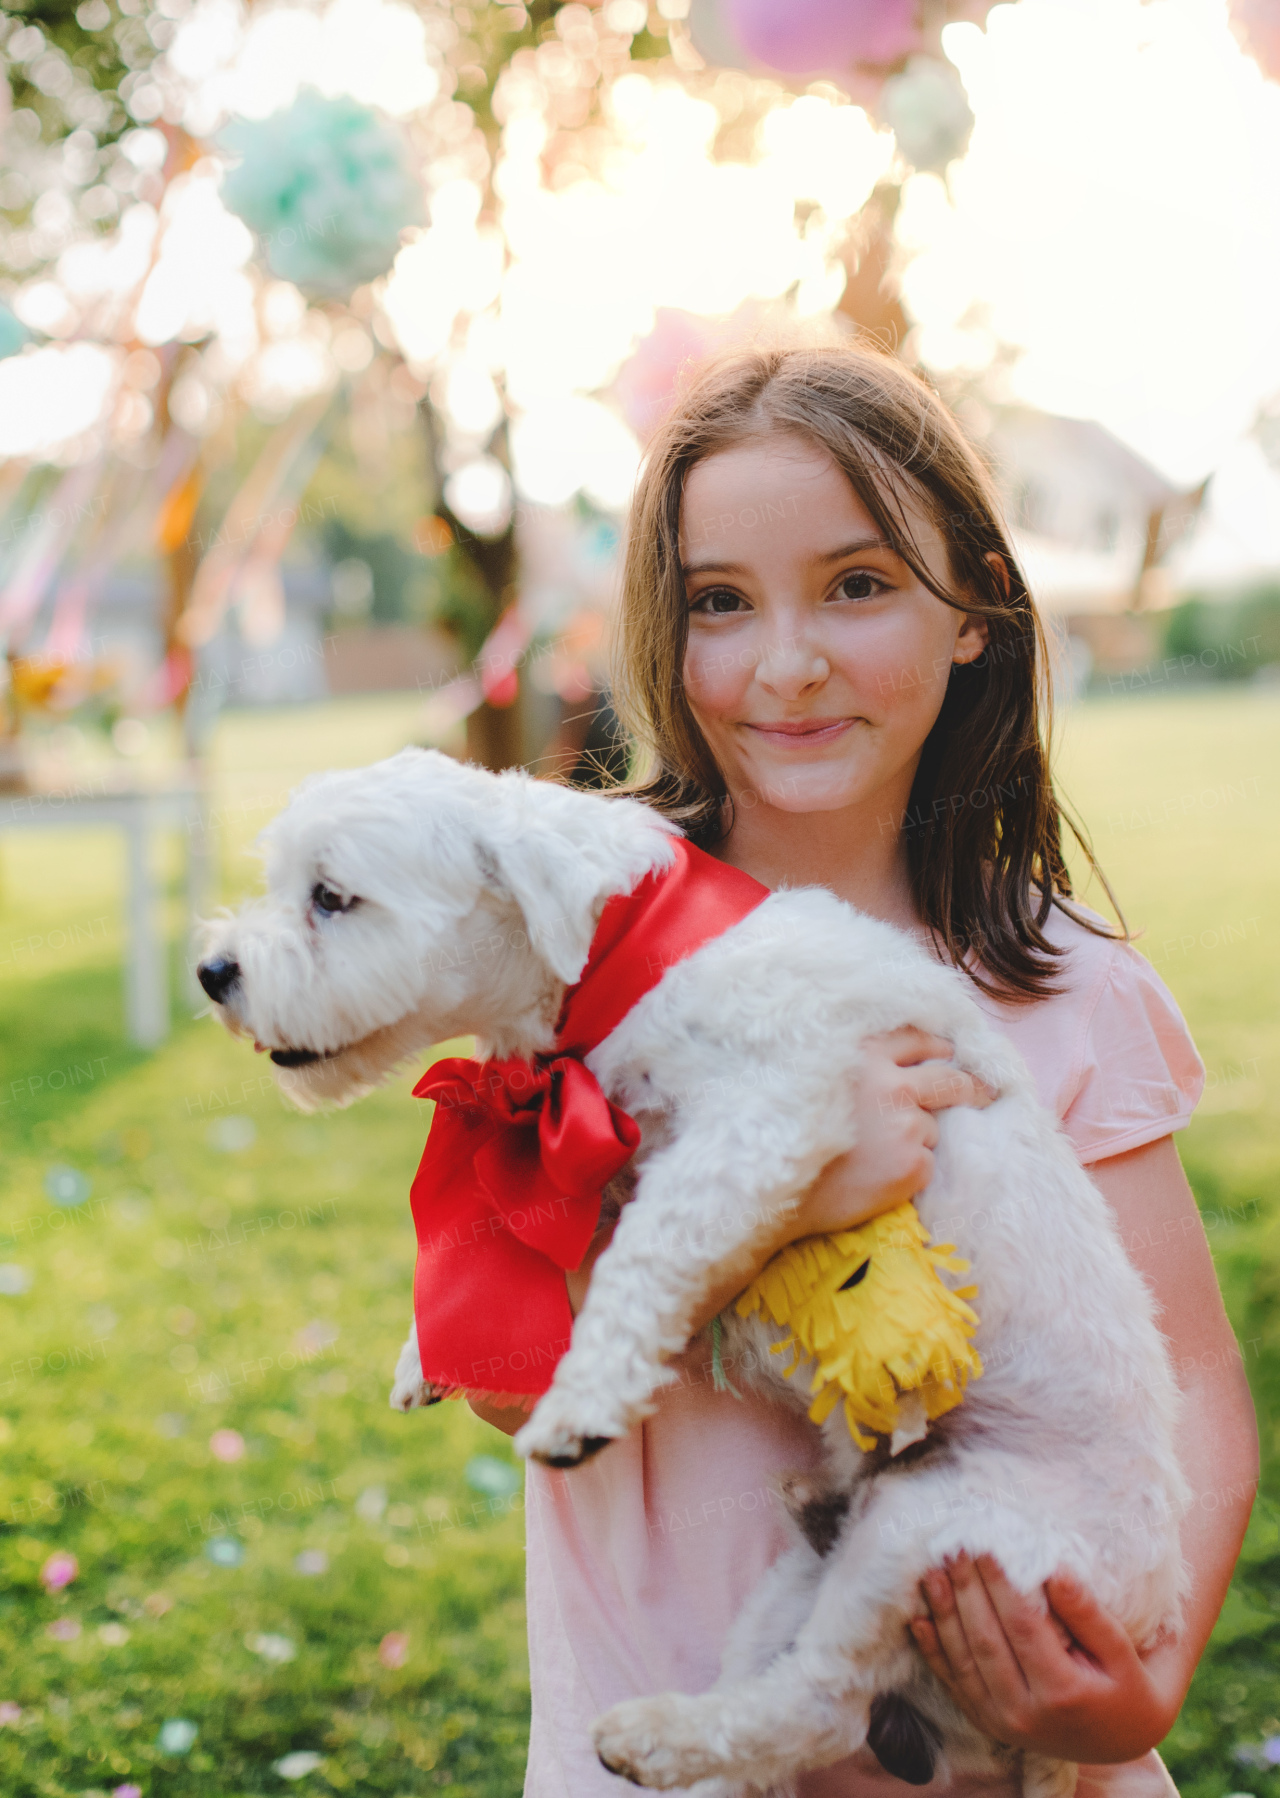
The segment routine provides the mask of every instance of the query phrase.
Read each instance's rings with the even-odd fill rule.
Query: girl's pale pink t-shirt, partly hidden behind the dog
[[[1181,1129],[1204,1068],[1169,989],[1136,949],[1052,913],[1070,949],[1055,998],[980,1003],[1021,1050],[1044,1104],[1089,1165]],[[696,1341],[680,1383],[624,1442],[568,1473],[529,1465],[529,1658],[534,1717],[525,1798],[622,1798],[588,1737],[626,1697],[705,1692],[742,1600],[795,1539],[777,1476],[816,1458],[816,1431],[760,1399],[717,1392]],[[1097,1769],[1107,1798],[1172,1791],[1160,1757]],[[1082,1791],[1091,1780],[1082,1782]],[[953,1798],[1016,1798],[956,1780]],[[809,1773],[798,1798],[902,1798],[863,1749]]]

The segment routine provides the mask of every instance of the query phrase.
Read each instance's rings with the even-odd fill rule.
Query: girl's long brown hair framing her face
[[[726,352],[696,372],[656,430],[631,507],[617,626],[615,705],[640,752],[631,791],[694,841],[724,832],[724,779],[683,683],[680,507],[696,462],[777,432],[825,450],[915,577],[987,619],[987,649],[951,669],[901,829],[915,904],[940,949],[985,992],[1044,998],[1062,953],[1044,921],[1071,897],[1062,823],[1107,897],[1111,888],[1053,793],[1044,629],[991,482],[951,412],[893,358],[852,343]],[[947,547],[947,584],[920,554],[908,502]]]

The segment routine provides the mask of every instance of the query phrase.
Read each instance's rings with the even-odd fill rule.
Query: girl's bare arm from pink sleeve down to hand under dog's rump
[[[1240,1348],[1226,1320],[1172,1136],[1100,1162],[1091,1174],[1156,1296],[1183,1390],[1178,1447],[1192,1489],[1181,1521],[1192,1577],[1185,1627],[1140,1658],[1071,1580],[1048,1582],[1046,1613],[987,1559],[929,1573],[929,1616],[913,1625],[929,1667],[978,1728],[1086,1764],[1136,1760],[1172,1728],[1222,1609],[1258,1483],[1248,1345]]]

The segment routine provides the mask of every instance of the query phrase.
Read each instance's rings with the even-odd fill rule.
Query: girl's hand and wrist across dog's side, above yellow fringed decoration
[[[852,1230],[924,1192],[933,1179],[937,1113],[947,1106],[985,1109],[994,1097],[956,1068],[951,1043],[940,1036],[908,1028],[868,1037],[854,1090],[858,1144],[818,1174],[787,1221],[784,1242]]]

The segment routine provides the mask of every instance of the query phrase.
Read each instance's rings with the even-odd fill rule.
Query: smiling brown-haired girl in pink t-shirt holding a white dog
[[[992,1561],[960,1561],[926,1579],[913,1634],[989,1735],[1084,1762],[1086,1793],[1165,1798],[1154,1746],[1222,1604],[1257,1438],[1170,1136],[1203,1068],[1149,964],[1071,901],[1044,687],[996,503],[920,381],[854,347],[753,351],[701,372],[649,446],[633,507],[618,701],[649,759],[638,791],[766,886],[827,885],[960,966],[1111,1203],[1183,1370],[1187,1627],[1140,1660],[1068,1580],[1036,1602]],[[947,1043],[895,1032],[877,1048],[858,1147],[786,1239],[919,1192],[935,1111],[987,1102]],[[570,1275],[575,1304],[606,1241]],[[527,1798],[618,1798],[591,1717],[712,1685],[730,1620],[787,1544],[777,1476],[814,1464],[816,1431],[710,1375],[699,1340],[626,1442],[570,1473],[529,1467]],[[498,1428],[523,1420],[476,1408]],[[978,1780],[956,1782],[958,1798],[980,1785],[1014,1798]],[[800,1798],[904,1789],[870,1749],[798,1782]]]

